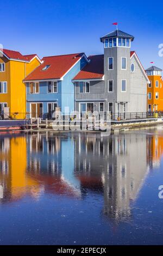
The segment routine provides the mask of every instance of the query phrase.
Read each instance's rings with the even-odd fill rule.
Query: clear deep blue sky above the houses
[[[1,40],[4,48],[43,56],[103,53],[100,36],[118,28],[135,36],[135,50],[145,68],[163,69],[158,45],[163,44],[162,2],[149,1],[9,1],[1,0]]]

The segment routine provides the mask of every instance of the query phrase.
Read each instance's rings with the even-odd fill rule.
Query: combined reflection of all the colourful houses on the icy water
[[[148,175],[160,166],[161,130],[110,137],[96,133],[38,132],[0,136],[0,202],[42,194],[84,200],[103,195],[103,215],[114,220],[132,216]]]

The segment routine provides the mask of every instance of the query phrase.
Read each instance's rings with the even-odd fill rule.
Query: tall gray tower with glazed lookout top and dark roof
[[[104,44],[104,83],[108,110],[116,113],[130,112],[130,44],[134,36],[118,29],[101,37]]]

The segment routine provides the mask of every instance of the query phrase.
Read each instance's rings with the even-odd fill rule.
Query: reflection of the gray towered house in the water
[[[129,217],[130,200],[136,198],[147,174],[146,135],[79,135],[75,152],[75,174],[81,188],[104,190],[104,214]]]

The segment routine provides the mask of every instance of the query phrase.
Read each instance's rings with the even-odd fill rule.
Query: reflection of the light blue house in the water
[[[42,184],[45,192],[79,196],[78,180],[73,175],[73,142],[53,132],[48,137],[29,135],[28,140],[28,175]]]

